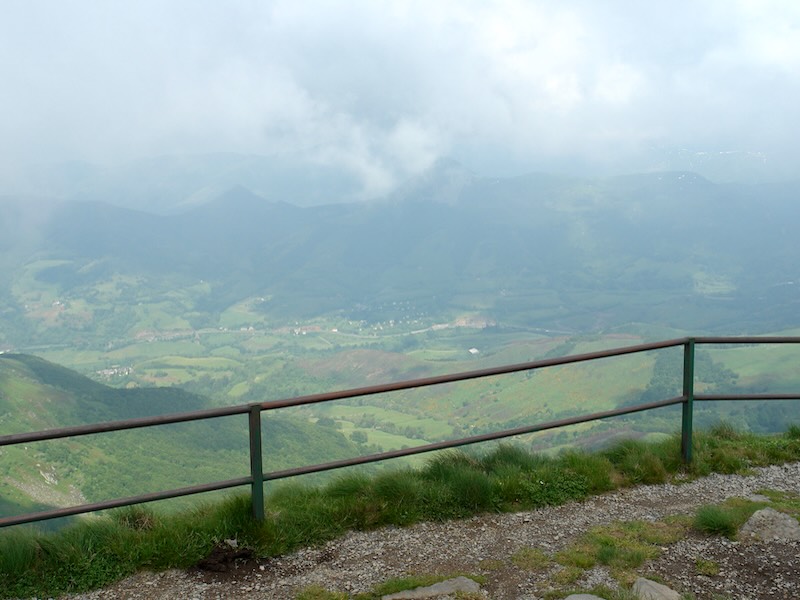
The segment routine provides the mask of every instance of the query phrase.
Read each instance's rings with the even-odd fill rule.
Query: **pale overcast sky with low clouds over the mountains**
[[[232,151],[388,189],[646,148],[797,156],[797,0],[0,0],[0,160]]]

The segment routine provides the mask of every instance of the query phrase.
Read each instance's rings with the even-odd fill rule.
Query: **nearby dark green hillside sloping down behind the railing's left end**
[[[177,388],[114,389],[28,355],[0,355],[0,434],[209,408]],[[265,469],[353,456],[332,428],[269,415]],[[248,473],[246,416],[2,449],[3,514],[230,479]]]

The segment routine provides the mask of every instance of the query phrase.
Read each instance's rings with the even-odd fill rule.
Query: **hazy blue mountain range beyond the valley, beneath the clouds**
[[[120,325],[124,305],[176,293],[195,326],[209,327],[219,311],[263,297],[280,318],[370,319],[399,301],[573,331],[632,321],[769,331],[797,324],[798,195],[800,185],[720,185],[687,172],[497,179],[443,162],[367,203],[300,207],[243,186],[173,215],[62,202],[25,252],[9,249],[17,258],[5,266],[0,318],[17,323],[7,344],[34,335],[23,290],[38,281],[55,286],[53,301],[86,303],[97,338],[104,318]],[[113,310],[87,301],[120,277]],[[74,340],[75,326],[40,321],[31,339]]]

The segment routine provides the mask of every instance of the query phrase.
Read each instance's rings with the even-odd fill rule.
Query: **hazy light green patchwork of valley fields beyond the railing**
[[[239,315],[238,323],[252,323],[254,306],[237,305],[231,314]],[[238,330],[151,330],[147,340],[106,351],[54,348],[38,354],[114,387],[178,386],[207,395],[212,404],[232,405],[593,352],[641,343],[653,333],[632,326],[625,333],[548,336],[518,328],[469,327],[464,321],[456,318],[422,331],[321,317],[264,329],[256,325],[265,327],[266,322]],[[664,339],[684,335],[658,333]],[[706,360],[698,364],[698,392],[800,386],[793,368],[797,349],[792,347],[714,347],[700,353]],[[679,368],[681,350],[669,349],[314,405],[297,409],[296,415],[311,423],[331,422],[349,439],[366,438],[365,448],[394,449],[636,403],[652,387],[659,355],[662,366]],[[717,381],[719,369],[736,377]],[[661,397],[680,394],[680,376],[673,372],[670,377],[660,382]],[[715,410],[722,410],[723,417],[743,417],[741,409]],[[596,444],[597,436],[617,435],[621,426],[587,424],[570,428],[566,436],[564,431],[539,434],[531,437],[536,442],[523,442],[542,447],[549,439],[561,447],[583,439]],[[677,426],[669,417],[641,431],[670,433]],[[629,418],[624,427],[635,433],[639,426]]]

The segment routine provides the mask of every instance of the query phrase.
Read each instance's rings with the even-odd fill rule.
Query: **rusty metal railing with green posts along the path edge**
[[[60,517],[67,517],[71,515],[95,512],[110,508],[118,508],[122,506],[130,506],[133,504],[140,504],[143,502],[152,502],[155,500],[166,500],[169,498],[178,498],[181,496],[188,496],[191,494],[200,494],[203,492],[217,491],[249,485],[251,488],[251,501],[253,507],[253,516],[256,519],[264,518],[264,482],[273,481],[277,479],[284,479],[287,477],[294,477],[297,475],[305,475],[309,473],[319,473],[323,471],[330,471],[332,469],[339,469],[342,467],[349,467],[355,465],[362,465],[373,463],[392,458],[399,458],[403,456],[411,456],[415,454],[422,454],[425,452],[432,452],[435,450],[444,450],[447,448],[456,448],[466,446],[469,444],[477,444],[490,440],[499,440],[512,436],[536,433],[539,431],[546,431],[550,429],[557,429],[559,427],[566,427],[568,425],[576,425],[579,423],[587,423],[599,419],[606,419],[609,417],[616,417],[620,415],[627,415],[655,408],[665,406],[673,406],[680,404],[682,406],[681,416],[681,454],[685,462],[692,460],[692,419],[693,419],[693,406],[696,401],[711,401],[711,400],[800,400],[800,393],[796,394],[724,394],[724,395],[701,395],[694,392],[695,381],[695,347],[698,344],[798,344],[800,337],[698,337],[698,338],[679,338],[666,340],[661,342],[653,342],[648,344],[638,344],[635,346],[626,346],[622,348],[614,348],[609,350],[600,350],[597,352],[589,352],[586,354],[575,354],[571,356],[563,356],[558,358],[547,358],[543,360],[536,360],[531,362],[518,363],[513,365],[505,365],[499,367],[491,367],[486,369],[479,369],[475,371],[465,371],[461,373],[452,373],[448,375],[438,375],[434,377],[425,377],[421,379],[413,379],[409,381],[400,381],[395,383],[388,383],[383,385],[374,385],[368,387],[360,387],[349,390],[342,390],[336,392],[327,392],[321,394],[311,394],[306,396],[299,396],[296,398],[289,398],[285,400],[261,402],[253,404],[244,404],[239,406],[231,406],[225,408],[215,408],[208,410],[199,410],[184,413],[175,413],[160,415],[155,417],[143,417],[137,419],[126,419],[123,421],[112,421],[106,423],[97,423],[93,425],[79,425],[75,427],[63,427],[58,429],[49,429],[46,431],[37,431],[30,433],[16,433],[11,435],[0,436],[0,447],[10,446],[15,444],[25,444],[30,442],[40,442],[45,440],[55,440],[68,437],[77,437],[82,435],[90,435],[95,433],[108,433],[115,431],[123,431],[126,429],[137,429],[141,427],[154,427],[158,425],[166,425],[170,423],[186,423],[190,421],[198,421],[203,419],[215,419],[219,417],[227,417],[231,415],[246,414],[248,415],[248,429],[250,438],[250,474],[235,479],[228,479],[225,481],[215,481],[200,485],[193,485],[183,488],[172,490],[165,490],[161,492],[154,492],[150,494],[140,494],[137,496],[130,496],[126,498],[116,498],[112,500],[105,500],[102,502],[94,502],[91,504],[82,504],[79,506],[72,506],[67,508],[58,508],[35,513],[27,513],[22,515],[0,517],[0,527],[19,525],[22,523],[31,523],[35,521],[43,521],[46,519],[55,519]],[[580,362],[594,361],[603,358],[611,358],[615,356],[624,356],[627,354],[636,354],[640,352],[648,352],[651,350],[660,350],[664,348],[683,347],[683,389],[680,396],[673,398],[666,398],[655,402],[647,402],[636,404],[633,406],[625,406],[612,410],[601,412],[594,412],[577,417],[570,417],[538,423],[535,425],[526,425],[522,427],[515,427],[512,429],[504,429],[491,433],[484,433],[481,435],[472,435],[469,437],[446,440],[430,444],[415,446],[413,448],[403,448],[398,450],[390,450],[386,452],[378,452],[365,456],[357,456],[353,458],[336,460],[326,463],[307,465],[292,469],[284,469],[280,471],[271,471],[264,473],[262,464],[262,449],[261,449],[261,413],[263,411],[278,410],[293,406],[307,406],[310,404],[317,404],[321,402],[331,402],[334,400],[341,400],[345,398],[358,398],[362,396],[370,396],[375,394],[382,394],[386,392],[396,392],[400,390],[409,390],[414,388],[422,388],[428,386],[441,385],[444,383],[454,383],[458,381],[466,381],[470,379],[480,379],[484,377],[491,377],[495,375],[506,375],[510,373],[517,373],[521,371],[531,371],[534,369],[545,369],[559,365],[568,365]]]

